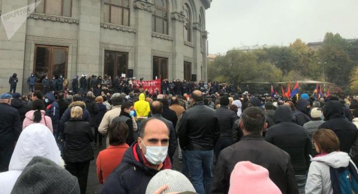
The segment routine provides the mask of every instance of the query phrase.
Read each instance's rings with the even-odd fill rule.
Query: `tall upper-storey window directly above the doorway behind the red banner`
[[[166,0],[154,1],[155,11],[152,15],[152,31],[168,34],[168,3]]]

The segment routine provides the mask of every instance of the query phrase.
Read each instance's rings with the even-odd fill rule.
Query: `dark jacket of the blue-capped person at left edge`
[[[0,147],[14,146],[22,131],[18,111],[7,103],[0,103]]]

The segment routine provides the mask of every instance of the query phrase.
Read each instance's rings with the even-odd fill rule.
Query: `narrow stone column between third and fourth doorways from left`
[[[173,69],[174,79],[184,79],[184,15],[178,12],[171,14],[173,26]]]

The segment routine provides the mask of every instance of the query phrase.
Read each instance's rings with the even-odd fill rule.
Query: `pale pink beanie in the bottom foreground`
[[[249,161],[238,162],[230,176],[229,194],[282,194],[271,181],[269,170]]]

